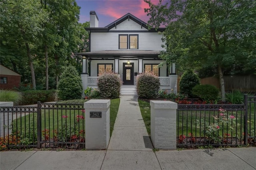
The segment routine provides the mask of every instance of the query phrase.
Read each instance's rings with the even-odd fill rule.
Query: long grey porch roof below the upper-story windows
[[[159,51],[151,50],[103,50],[103,51],[92,51],[84,53],[75,53],[81,57],[86,58],[110,58],[110,57],[123,57],[123,58],[133,58],[133,57],[146,57],[146,58],[158,58],[160,54]]]

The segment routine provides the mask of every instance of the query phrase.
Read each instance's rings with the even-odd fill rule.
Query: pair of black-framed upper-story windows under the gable
[[[138,36],[138,34],[130,34],[128,39],[128,34],[120,34],[119,49],[138,49]]]

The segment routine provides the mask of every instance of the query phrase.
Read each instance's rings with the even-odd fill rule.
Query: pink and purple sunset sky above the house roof
[[[99,18],[99,27],[105,27],[130,13],[140,20],[147,22],[149,16],[144,12],[148,4],[143,0],[76,0],[80,6],[80,23],[90,21],[90,11],[95,11]],[[157,4],[154,0],[154,4]]]

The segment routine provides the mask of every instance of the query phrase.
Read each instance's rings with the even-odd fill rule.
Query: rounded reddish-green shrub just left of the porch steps
[[[97,85],[101,97],[115,99],[120,96],[122,81],[116,73],[100,73]]]

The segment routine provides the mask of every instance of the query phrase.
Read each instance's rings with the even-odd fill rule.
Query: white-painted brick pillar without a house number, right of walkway
[[[154,148],[176,149],[176,110],[172,101],[150,101],[151,140]]]

